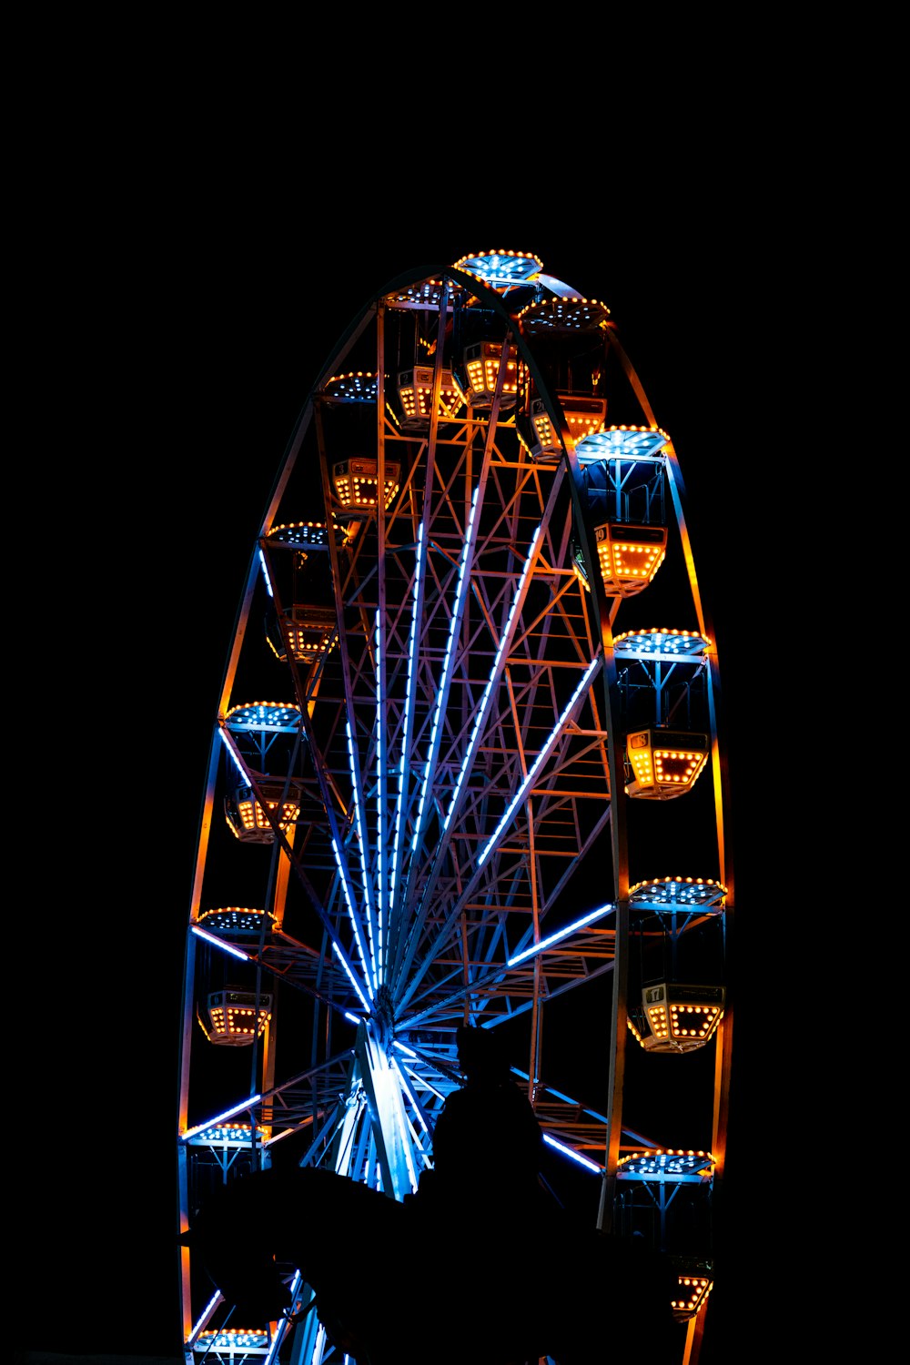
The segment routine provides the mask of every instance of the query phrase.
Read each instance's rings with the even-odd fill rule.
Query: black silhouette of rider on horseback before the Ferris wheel
[[[529,1102],[486,1043],[460,1044],[468,1080],[416,1194],[295,1167],[244,1175],[199,1212],[187,1239],[235,1305],[229,1325],[280,1319],[300,1269],[357,1365],[678,1365],[664,1259],[562,1212],[538,1178]]]

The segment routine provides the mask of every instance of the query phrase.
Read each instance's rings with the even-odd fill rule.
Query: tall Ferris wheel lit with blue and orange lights
[[[184,1227],[278,1159],[404,1198],[461,1082],[456,1031],[502,1031],[599,1226],[674,1257],[697,1360],[731,1052],[719,699],[679,461],[608,307],[521,251],[383,285],[292,434],[218,698]],[[596,1028],[553,1047],[568,1007]],[[696,1055],[674,1141],[694,1073],[670,1072]],[[226,1320],[181,1257],[187,1362],[345,1360],[315,1313]]]

